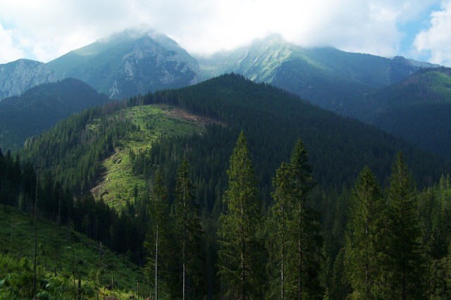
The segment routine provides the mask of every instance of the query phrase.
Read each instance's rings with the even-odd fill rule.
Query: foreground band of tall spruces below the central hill
[[[344,237],[331,268],[327,247],[334,241],[324,233],[330,220],[314,209],[316,182],[301,140],[290,161],[276,170],[273,204],[264,209],[240,133],[217,219],[202,214],[186,159],[178,167],[171,205],[157,172],[147,201],[120,213],[89,194],[73,201],[49,174],[37,182],[33,167],[21,167],[10,152],[0,154],[0,164],[1,204],[31,213],[37,197],[41,218],[128,252],[152,278],[158,298],[426,299],[433,278],[450,284],[450,178],[416,190],[401,153],[385,189],[369,168],[360,172],[347,199]],[[2,285],[0,292],[6,292],[8,282]],[[13,289],[18,298],[27,296],[23,289]]]

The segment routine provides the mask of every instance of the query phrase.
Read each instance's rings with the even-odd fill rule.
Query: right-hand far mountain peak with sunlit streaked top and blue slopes
[[[365,93],[404,79],[420,67],[402,57],[393,60],[336,48],[302,48],[278,35],[254,41],[235,51],[198,58],[199,75],[243,74],[297,93],[311,103],[342,115],[353,115]]]

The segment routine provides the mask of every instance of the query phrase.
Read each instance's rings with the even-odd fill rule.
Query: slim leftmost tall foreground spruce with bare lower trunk
[[[167,258],[162,248],[168,244],[168,190],[163,182],[161,171],[157,171],[153,186],[153,193],[149,202],[150,228],[144,247],[149,252],[149,273],[154,277],[155,299],[159,299],[159,280],[162,277],[163,259]],[[151,277],[151,276],[149,276]]]

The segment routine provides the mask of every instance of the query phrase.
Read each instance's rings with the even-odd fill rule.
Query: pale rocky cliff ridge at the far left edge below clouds
[[[21,59],[0,65],[0,100],[56,79],[53,70],[35,60]]]

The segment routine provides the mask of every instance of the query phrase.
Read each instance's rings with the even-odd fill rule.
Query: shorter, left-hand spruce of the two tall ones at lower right
[[[381,188],[371,170],[364,167],[351,193],[345,235],[345,270],[354,299],[382,296],[378,285],[384,210]]]

